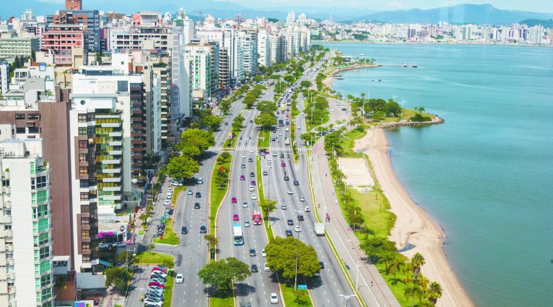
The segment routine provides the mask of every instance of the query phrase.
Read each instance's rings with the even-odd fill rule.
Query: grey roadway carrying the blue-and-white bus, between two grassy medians
[[[270,88],[261,100],[272,100],[272,95],[273,89]],[[257,187],[254,185],[254,191],[250,191],[250,185],[252,180],[260,184],[258,178],[261,176],[256,174],[258,157],[257,151],[253,149],[257,142],[257,130],[252,122],[258,115],[259,111],[256,109],[245,110],[243,130],[236,136],[236,145],[251,147],[251,149],[236,152],[232,158],[229,191],[221,203],[216,222],[219,239],[217,259],[234,257],[250,267],[252,264],[257,265],[259,272],[252,272],[251,277],[236,284],[236,297],[239,302],[250,301],[252,306],[268,306],[270,293],[279,293],[280,290],[276,274],[263,270],[266,259],[261,257],[261,250],[268,244],[265,228],[263,225],[253,225],[252,221],[254,210],[259,210],[257,205],[259,199],[252,199],[252,194],[258,196]],[[249,162],[250,159],[252,162]],[[254,173],[254,177],[250,176],[251,173]],[[241,180],[241,176],[244,176],[244,180]],[[232,203],[232,198],[236,198],[236,203]],[[244,207],[244,202],[247,203],[247,207]],[[238,214],[238,221],[234,221],[234,214]],[[250,221],[250,227],[244,226],[245,221]],[[241,225],[243,245],[233,243],[232,226],[235,224]],[[256,256],[250,255],[250,248],[256,250]]]

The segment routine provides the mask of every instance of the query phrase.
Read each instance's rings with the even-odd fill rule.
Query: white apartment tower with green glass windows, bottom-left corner
[[[50,167],[42,139],[0,142],[0,306],[54,306]]]

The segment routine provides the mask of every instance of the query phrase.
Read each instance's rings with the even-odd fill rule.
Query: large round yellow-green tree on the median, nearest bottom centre
[[[265,252],[269,268],[288,280],[296,276],[296,259],[299,276],[312,277],[321,269],[315,249],[292,236],[277,236],[265,246]]]

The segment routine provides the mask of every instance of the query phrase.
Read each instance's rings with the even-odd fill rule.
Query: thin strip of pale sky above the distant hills
[[[163,1],[163,0],[159,0]],[[364,10],[409,10],[411,8],[440,8],[462,3],[489,3],[502,10],[553,12],[552,0],[214,0],[240,3],[250,8],[282,8],[285,6],[313,6],[316,8],[357,8]]]

